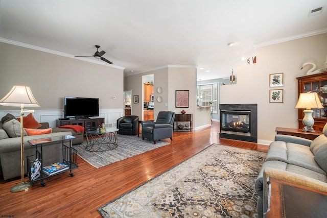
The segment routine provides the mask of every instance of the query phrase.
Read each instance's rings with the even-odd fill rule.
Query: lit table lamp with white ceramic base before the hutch
[[[320,99],[318,97],[318,94],[316,92],[306,92],[306,93],[300,93],[300,96],[298,98],[297,104],[295,108],[302,108],[306,109],[303,110],[305,113],[305,116],[302,119],[303,123],[303,132],[315,132],[313,129],[313,125],[315,123],[314,118],[312,117],[313,110],[311,108],[323,108]]]

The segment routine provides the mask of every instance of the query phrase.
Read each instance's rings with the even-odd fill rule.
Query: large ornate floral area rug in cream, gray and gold
[[[266,153],[213,144],[98,209],[103,217],[258,217]]]

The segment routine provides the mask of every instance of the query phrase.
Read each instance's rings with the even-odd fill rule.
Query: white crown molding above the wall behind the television
[[[7,44],[13,44],[13,45],[21,46],[21,47],[26,47],[28,49],[33,49],[33,50],[37,50],[37,51],[41,51],[41,52],[54,54],[54,55],[64,56],[64,57],[67,57],[67,58],[74,58],[74,59],[78,59],[78,60],[81,60],[81,61],[87,61],[87,62],[100,64],[100,65],[104,65],[104,66],[108,66],[108,67],[113,67],[113,68],[117,68],[117,69],[122,69],[122,70],[125,69],[125,67],[122,67],[122,66],[117,66],[117,65],[114,65],[114,64],[108,65],[106,63],[101,63],[100,61],[97,61],[97,60],[91,60],[91,59],[87,59],[87,58],[75,57],[74,55],[66,54],[66,53],[63,53],[63,52],[58,52],[58,51],[55,51],[55,50],[44,49],[44,47],[39,47],[39,46],[31,45],[31,44],[17,42],[17,41],[13,41],[13,40],[10,40],[10,39],[0,38],[0,42],[4,42],[4,43],[7,43]]]

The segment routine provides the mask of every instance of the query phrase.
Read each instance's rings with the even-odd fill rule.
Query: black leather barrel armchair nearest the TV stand
[[[117,119],[118,134],[137,135],[138,134],[138,116],[128,115]]]

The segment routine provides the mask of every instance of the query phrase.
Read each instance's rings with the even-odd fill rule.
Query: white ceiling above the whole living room
[[[195,65],[198,79],[207,80],[229,77],[232,68],[237,74],[236,66],[246,64],[241,58],[255,56],[254,45],[327,32],[326,5],[327,0],[0,0],[0,38],[68,57],[93,55],[98,44],[104,58],[125,68],[125,76]],[[308,16],[319,7],[322,13]]]

